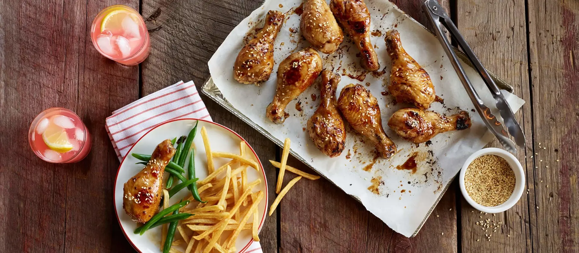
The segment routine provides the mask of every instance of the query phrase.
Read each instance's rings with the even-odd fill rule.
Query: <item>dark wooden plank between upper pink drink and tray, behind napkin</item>
[[[197,90],[208,79],[207,61],[229,32],[247,17],[261,1],[142,1],[142,13],[147,17],[161,8],[162,13],[148,28],[161,26],[151,32],[151,55],[141,64],[142,94],[147,95],[179,80],[193,80]],[[276,170],[267,160],[276,158],[275,144],[203,96],[203,102],[212,119],[233,129],[255,149],[263,162],[269,189],[275,188]],[[275,198],[274,192],[268,196]],[[277,251],[277,218],[265,219],[259,234],[264,252]]]

